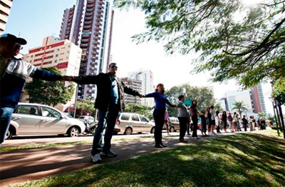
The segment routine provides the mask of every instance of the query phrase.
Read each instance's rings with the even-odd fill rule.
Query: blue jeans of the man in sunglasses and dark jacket
[[[91,151],[92,156],[94,156],[97,153],[100,153],[101,151],[108,152],[110,150],[111,139],[113,136],[115,121],[117,119],[118,113],[119,113],[118,105],[109,106],[108,110],[99,110],[98,126],[95,130],[95,134],[93,137],[93,146]],[[104,136],[104,146],[102,149],[102,137],[103,137],[104,128],[106,128],[106,130]]]

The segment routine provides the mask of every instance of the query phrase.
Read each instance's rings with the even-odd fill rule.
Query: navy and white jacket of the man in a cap
[[[0,56],[0,58],[2,57]],[[22,59],[13,57],[9,61],[4,75],[0,78],[1,108],[16,107],[28,76],[46,81],[60,81],[62,79],[61,75],[38,69]]]

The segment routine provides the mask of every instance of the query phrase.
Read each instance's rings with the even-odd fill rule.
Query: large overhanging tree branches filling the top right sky
[[[284,0],[254,6],[240,0],[114,2],[145,12],[148,31],[133,36],[138,44],[166,41],[170,54],[199,52],[195,72],[210,71],[212,81],[236,79],[247,89],[271,79],[277,91],[285,91]]]

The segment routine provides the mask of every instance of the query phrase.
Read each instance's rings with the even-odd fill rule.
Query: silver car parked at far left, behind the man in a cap
[[[16,135],[67,134],[78,136],[85,131],[82,121],[69,118],[56,108],[38,103],[19,103],[12,115],[6,139]]]

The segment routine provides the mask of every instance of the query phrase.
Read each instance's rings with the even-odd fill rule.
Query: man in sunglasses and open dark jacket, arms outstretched
[[[128,93],[133,96],[142,95],[117,78],[118,66],[115,63],[109,65],[109,72],[100,73],[97,76],[63,76],[64,81],[74,81],[77,84],[96,84],[97,97],[95,100],[95,108],[98,108],[99,118],[98,126],[93,137],[93,146],[91,158],[93,163],[102,161],[100,156],[115,157],[117,153],[112,151],[111,139],[115,127],[119,111],[125,109],[125,95]],[[104,146],[102,147],[103,129],[107,123],[104,136]]]

